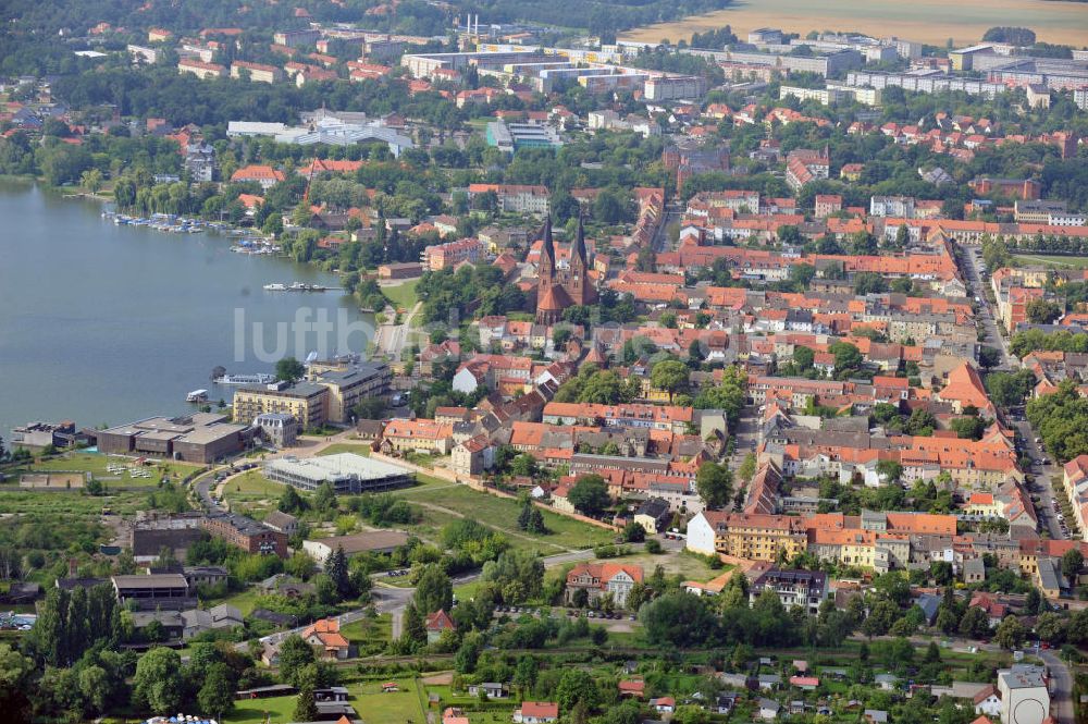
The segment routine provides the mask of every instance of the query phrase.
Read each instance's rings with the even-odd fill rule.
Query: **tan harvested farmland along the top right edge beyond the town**
[[[1088,42],[1088,8],[1048,0],[735,0],[729,10],[628,30],[621,40],[672,42],[692,33],[730,25],[741,40],[749,30],[777,27],[802,37],[809,30],[856,30],[878,38],[895,36],[943,47],[951,37],[959,47],[981,40],[998,25],[1029,27],[1039,40],[1081,47]]]

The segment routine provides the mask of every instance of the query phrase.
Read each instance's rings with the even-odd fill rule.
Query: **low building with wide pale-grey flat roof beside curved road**
[[[321,483],[329,482],[337,493],[392,490],[415,482],[407,468],[355,453],[269,461],[264,464],[264,476],[301,490],[317,490]]]

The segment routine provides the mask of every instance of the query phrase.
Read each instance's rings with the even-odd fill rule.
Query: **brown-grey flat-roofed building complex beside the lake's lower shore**
[[[248,425],[232,425],[226,415],[197,413],[185,417],[149,417],[101,430],[98,450],[120,455],[150,455],[188,463],[212,463],[242,452]]]

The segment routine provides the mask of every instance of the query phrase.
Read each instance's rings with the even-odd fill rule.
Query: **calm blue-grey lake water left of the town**
[[[182,414],[193,409],[190,390],[230,401],[234,388],[211,383],[217,365],[267,372],[284,354],[301,359],[322,344],[343,352],[338,339],[361,353],[373,335],[372,319],[341,291],[262,289],[338,286],[334,274],[234,254],[218,234],[116,226],[101,211],[98,203],[0,182],[4,439],[33,420],[92,427]],[[288,327],[322,315],[331,329],[320,335]]]

